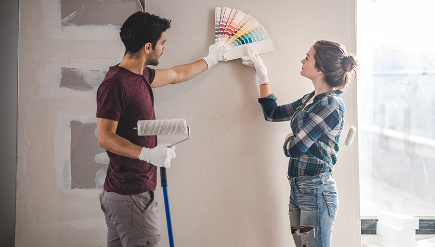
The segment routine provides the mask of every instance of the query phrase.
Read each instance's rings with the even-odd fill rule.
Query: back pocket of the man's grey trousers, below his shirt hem
[[[132,227],[132,205],[133,201],[105,200],[107,215],[113,221],[113,226],[119,233]]]

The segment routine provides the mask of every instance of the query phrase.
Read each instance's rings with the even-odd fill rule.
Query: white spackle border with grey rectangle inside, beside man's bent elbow
[[[55,164],[59,188],[94,198],[101,192],[109,157],[99,147],[95,114],[57,114]]]

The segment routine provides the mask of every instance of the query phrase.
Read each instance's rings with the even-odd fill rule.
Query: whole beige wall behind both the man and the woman
[[[126,2],[126,1],[121,1]],[[261,55],[278,103],[314,89],[299,72],[314,40],[329,39],[355,52],[355,2],[148,1],[148,12],[172,20],[157,68],[193,62],[214,42],[214,9],[231,7],[268,31],[275,51]],[[134,9],[134,10],[133,10]],[[138,7],[132,8],[131,13]],[[57,0],[20,2],[19,164],[16,246],[105,246],[100,189],[69,189],[68,119],[91,119],[95,92],[59,87],[71,65],[103,70],[120,61],[123,46],[110,28],[62,33]],[[97,34],[97,35],[95,35]],[[100,39],[100,40],[97,40]],[[219,62],[193,80],[156,89],[157,118],[185,118],[191,140],[177,147],[168,192],[177,246],[294,246],[289,232],[288,122],[266,122],[257,102],[254,69]],[[345,128],[357,126],[356,82],[343,98]],[[168,136],[161,142],[182,137]],[[358,145],[342,147],[334,177],[340,210],[333,246],[360,245]],[[162,246],[165,209],[157,189]]]

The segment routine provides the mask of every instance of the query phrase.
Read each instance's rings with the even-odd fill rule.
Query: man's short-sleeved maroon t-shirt
[[[97,91],[97,117],[118,122],[116,134],[141,147],[154,148],[157,136],[137,136],[137,120],[154,120],[151,83],[155,70],[146,67],[142,75],[122,67],[109,68]],[[106,151],[109,166],[104,190],[131,195],[156,190],[157,167]]]

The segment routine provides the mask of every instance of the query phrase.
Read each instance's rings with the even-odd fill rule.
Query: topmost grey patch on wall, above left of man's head
[[[60,0],[62,28],[67,26],[120,27],[128,16],[139,10],[136,1]]]

